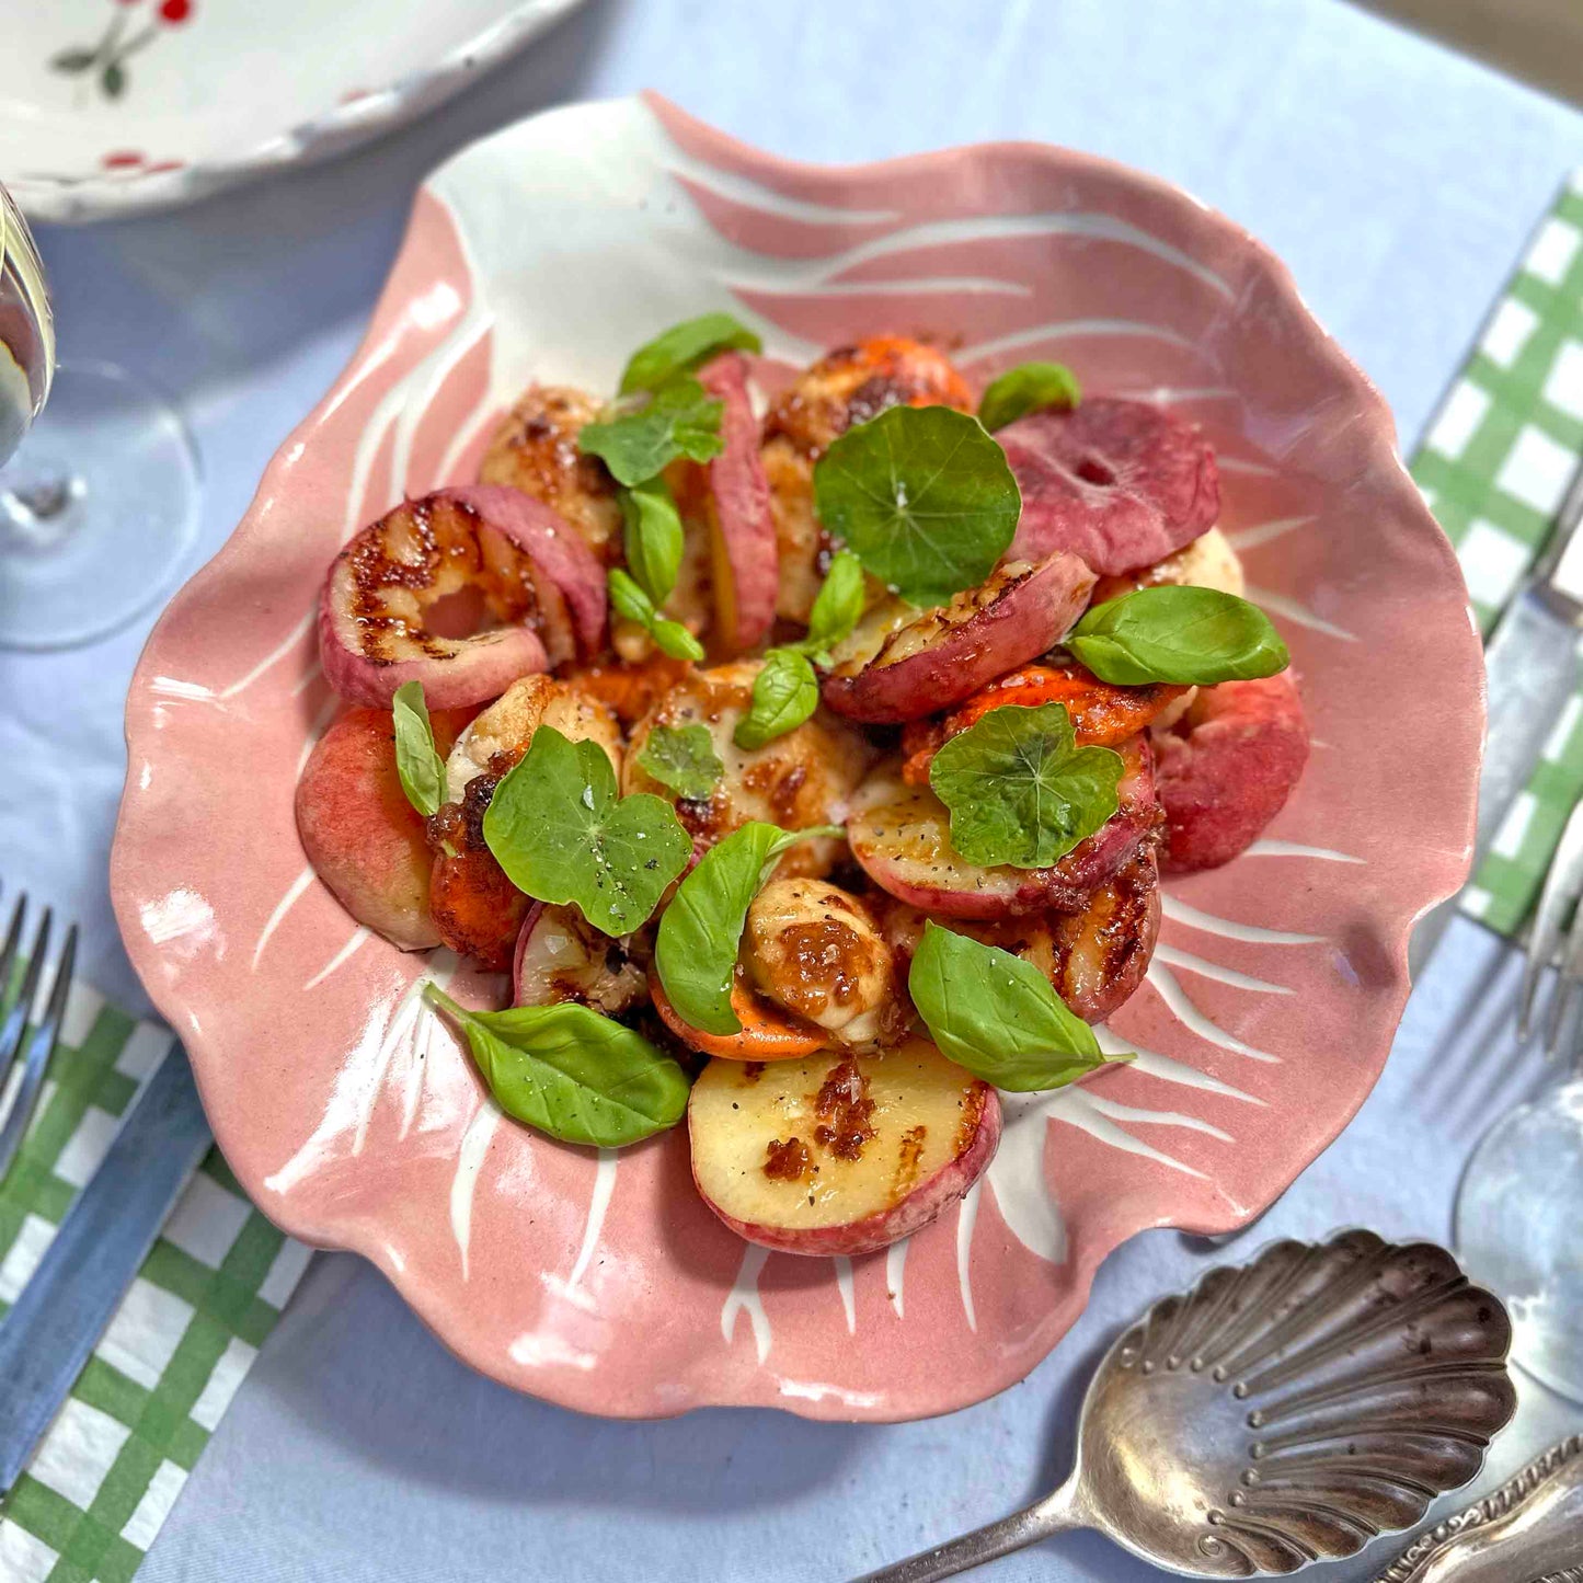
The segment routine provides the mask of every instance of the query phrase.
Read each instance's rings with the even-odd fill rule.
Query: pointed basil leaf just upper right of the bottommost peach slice
[[[923,926],[907,993],[940,1053],[996,1088],[1064,1088],[1105,1064],[1094,1029],[1021,956]]]

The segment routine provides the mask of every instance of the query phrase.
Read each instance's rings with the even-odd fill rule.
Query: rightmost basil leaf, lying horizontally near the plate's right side
[[[1292,663],[1270,617],[1220,589],[1162,584],[1095,605],[1067,647],[1102,681],[1216,682],[1274,676]]]

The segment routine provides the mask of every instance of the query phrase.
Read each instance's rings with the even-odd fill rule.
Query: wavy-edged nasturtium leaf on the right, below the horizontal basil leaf
[[[1076,746],[1065,704],[1002,704],[939,749],[929,785],[969,863],[1048,869],[1116,812],[1122,769],[1121,754]]]

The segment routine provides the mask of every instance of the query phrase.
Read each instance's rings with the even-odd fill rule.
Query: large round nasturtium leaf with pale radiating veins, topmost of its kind
[[[909,605],[983,583],[1023,508],[1005,453],[950,407],[891,407],[814,465],[820,522]]]

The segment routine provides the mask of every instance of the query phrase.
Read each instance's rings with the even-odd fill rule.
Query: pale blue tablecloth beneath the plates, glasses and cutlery
[[[1289,261],[1409,438],[1534,218],[1583,163],[1577,112],[1338,0],[590,0],[464,103],[375,149],[166,217],[44,231],[63,355],[144,370],[193,424],[206,473],[193,567],[350,356],[423,173],[541,106],[646,85],[804,158],[1027,136],[1157,171]],[[84,921],[89,972],[128,1004],[142,999],[104,861],[122,697],[149,625],[78,652],[0,652],[0,871]],[[1461,1160],[1539,1076],[1491,1034],[1501,966],[1491,940],[1456,926],[1368,1107],[1235,1257],[1265,1233],[1346,1224],[1450,1238]],[[1501,981],[1509,993],[1509,961]],[[1482,1008],[1471,1019],[1469,1005]],[[1042,1490],[1121,1322],[1211,1257],[1173,1233],[1137,1238],[1026,1382],[885,1428],[763,1410],[581,1418],[470,1374],[377,1274],[325,1257],[141,1578],[850,1575]],[[1583,1423],[1537,1387],[1524,1403],[1498,1471]],[[1384,1543],[1372,1564],[1330,1575],[1372,1577],[1391,1553]],[[1159,1577],[1092,1536],[985,1575]]]

